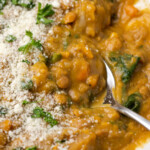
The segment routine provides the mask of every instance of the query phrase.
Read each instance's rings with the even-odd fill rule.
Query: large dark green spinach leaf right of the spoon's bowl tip
[[[115,63],[115,67],[122,72],[122,81],[127,83],[140,60],[139,57],[130,54],[111,53],[109,59]]]

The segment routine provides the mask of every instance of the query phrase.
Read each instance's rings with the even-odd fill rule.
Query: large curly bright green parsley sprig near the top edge
[[[37,14],[37,24],[43,23],[43,24],[51,24],[53,20],[48,19],[48,17],[51,17],[54,15],[54,10],[52,5],[46,4],[44,8],[41,8],[42,4],[38,3],[38,14]]]

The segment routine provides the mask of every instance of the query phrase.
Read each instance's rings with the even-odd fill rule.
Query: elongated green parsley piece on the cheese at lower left
[[[51,125],[51,127],[58,124],[57,120],[54,119],[49,112],[45,112],[43,108],[36,107],[33,110],[32,118],[43,118],[47,123]]]

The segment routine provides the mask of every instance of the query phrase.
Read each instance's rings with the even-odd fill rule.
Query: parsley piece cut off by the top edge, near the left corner
[[[35,6],[33,0],[28,0],[27,3],[24,3],[22,0],[11,0],[11,2],[13,5],[21,6],[27,9],[32,9]]]

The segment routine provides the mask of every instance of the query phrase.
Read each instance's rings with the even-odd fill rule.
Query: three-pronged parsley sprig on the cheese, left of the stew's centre
[[[37,48],[40,51],[43,50],[43,46],[39,40],[33,39],[33,33],[30,31],[26,31],[26,36],[30,37],[29,43],[27,43],[24,46],[21,46],[18,51],[23,52],[24,54],[27,54],[30,50],[33,48]]]

